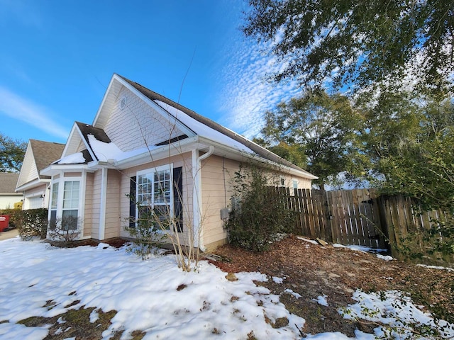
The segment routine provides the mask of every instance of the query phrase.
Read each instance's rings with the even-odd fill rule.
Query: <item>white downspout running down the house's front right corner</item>
[[[194,150],[192,152],[192,160],[195,166],[192,167],[192,176],[194,178],[194,189],[192,191],[192,202],[194,204],[193,207],[193,225],[194,225],[194,237],[196,239],[196,244],[194,246],[198,247],[201,251],[206,250],[206,246],[204,245],[204,235],[203,229],[201,229],[201,161],[208,158],[214,152],[214,146],[210,146],[208,152],[202,154],[200,157],[197,157],[196,152],[198,150]]]

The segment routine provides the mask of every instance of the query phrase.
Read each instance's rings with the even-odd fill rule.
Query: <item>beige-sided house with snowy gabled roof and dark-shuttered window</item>
[[[231,177],[240,163],[275,166],[279,184],[311,188],[316,176],[160,94],[114,74],[92,125],[76,122],[52,178],[50,221],[77,217],[81,239],[130,237],[138,206],[177,217],[195,246],[226,242]],[[128,196],[135,198],[135,205]],[[143,210],[140,210],[143,211]],[[133,226],[133,224],[131,225]]]

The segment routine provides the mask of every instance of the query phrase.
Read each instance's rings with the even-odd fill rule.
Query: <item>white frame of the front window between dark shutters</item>
[[[162,195],[160,195],[159,193],[156,192],[156,189],[157,187],[155,186],[156,183],[160,183],[159,182],[155,182],[155,174],[157,173],[161,173],[162,171],[168,171],[169,173],[169,195],[168,195],[168,202],[162,202],[162,201],[158,201],[156,202],[155,201],[155,198],[157,198],[157,196],[161,196],[160,198],[162,198]],[[142,185],[145,185],[143,183],[141,183],[141,180],[140,180],[140,177],[141,176],[150,176],[150,178],[152,179],[151,183],[148,183],[148,186],[150,186],[151,188],[151,192],[149,193],[143,193],[142,191],[140,191],[140,186]],[[155,210],[155,207],[159,207],[159,206],[168,206],[168,211],[170,212],[170,220],[173,219],[174,215],[175,215],[175,207],[174,207],[174,183],[173,183],[173,164],[166,164],[166,165],[162,165],[162,166],[155,166],[153,168],[150,168],[150,169],[145,169],[145,170],[141,170],[141,171],[137,171],[136,173],[136,184],[135,184],[135,202],[137,202],[138,204],[136,205],[135,207],[135,219],[138,220],[139,219],[139,209],[138,207],[139,206],[149,206],[150,208],[153,209],[153,211]],[[165,180],[167,181],[167,180]],[[158,184],[159,185],[159,184]],[[146,198],[146,200],[143,200],[143,195],[145,196],[148,196]],[[142,196],[142,197],[141,197]],[[165,196],[167,197],[167,196]],[[142,202],[145,202],[144,204],[142,204]],[[171,231],[173,228],[170,228],[169,226],[169,231]],[[160,229],[157,229],[157,232],[162,232],[162,230]]]

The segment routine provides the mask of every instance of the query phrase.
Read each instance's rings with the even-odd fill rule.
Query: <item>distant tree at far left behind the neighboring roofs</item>
[[[0,172],[21,171],[26,150],[26,142],[13,140],[0,132]]]

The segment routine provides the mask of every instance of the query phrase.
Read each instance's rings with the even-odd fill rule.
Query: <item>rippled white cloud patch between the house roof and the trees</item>
[[[264,113],[281,101],[298,96],[301,88],[297,81],[267,81],[267,75],[277,72],[282,64],[263,54],[255,43],[238,39],[230,50],[234,52],[227,54],[221,77],[221,120],[245,137],[256,137],[264,124]]]

